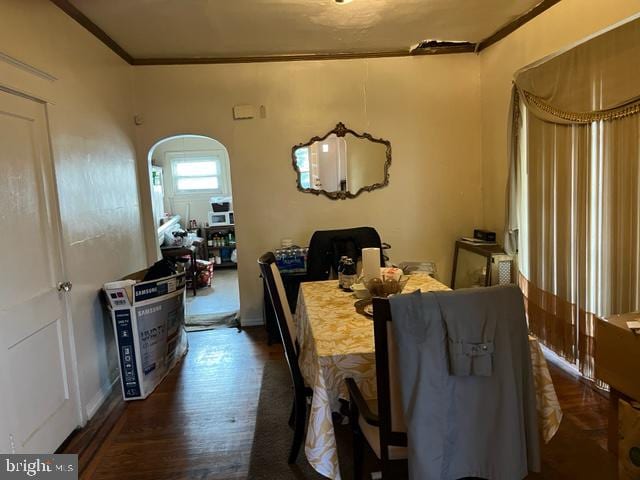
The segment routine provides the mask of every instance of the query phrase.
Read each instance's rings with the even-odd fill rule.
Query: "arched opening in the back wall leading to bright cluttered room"
[[[226,147],[203,135],[167,137],[149,150],[148,168],[158,256],[180,241],[176,230],[202,239],[196,249],[198,289],[187,294],[187,328],[236,324],[237,244]]]

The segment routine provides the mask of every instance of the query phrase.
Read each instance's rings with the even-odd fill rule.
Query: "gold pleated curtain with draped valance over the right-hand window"
[[[633,72],[640,20],[526,69],[513,90],[505,245],[518,252],[531,332],[589,378],[596,318],[640,310]]]

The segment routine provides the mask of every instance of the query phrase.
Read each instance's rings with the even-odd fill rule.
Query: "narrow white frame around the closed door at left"
[[[48,143],[49,150],[49,178],[45,178],[43,181],[44,187],[47,189],[46,195],[47,198],[51,202],[51,210],[49,211],[49,215],[51,217],[51,224],[53,227],[53,235],[55,235],[57,239],[57,253],[60,261],[60,274],[62,275],[63,281],[69,280],[68,277],[68,269],[67,269],[67,261],[64,252],[64,237],[62,235],[62,217],[60,214],[60,201],[58,195],[58,185],[56,182],[56,168],[55,168],[55,156],[53,151],[53,140],[51,137],[51,120],[50,120],[50,109],[54,104],[41,98],[31,92],[26,92],[14,86],[7,85],[3,82],[0,82],[0,91],[8,93],[10,95],[16,95],[18,97],[25,98],[27,100],[36,102],[42,105],[44,109],[44,119],[45,119],[45,133]],[[61,279],[61,280],[62,280]],[[73,323],[73,316],[71,315],[71,302],[69,294],[63,295],[64,302],[64,310],[65,310],[65,318],[64,320],[68,325],[68,335],[69,335],[69,361],[71,365],[71,378],[68,378],[67,381],[69,383],[70,394],[75,398],[76,403],[76,419],[78,422],[78,427],[83,427],[87,423],[87,418],[84,413],[84,408],[82,408],[82,398],[80,395],[80,375],[78,369],[78,356],[76,352],[76,341],[75,341],[75,327]]]

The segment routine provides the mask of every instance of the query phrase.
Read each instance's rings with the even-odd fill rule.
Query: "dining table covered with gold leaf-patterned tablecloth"
[[[403,293],[450,290],[435,278],[414,273]],[[320,474],[340,480],[332,414],[348,400],[345,379],[353,378],[366,400],[376,398],[376,366],[372,319],[358,313],[353,293],[337,280],[300,285],[294,321],[299,343],[298,363],[313,389],[305,454]],[[562,410],[538,340],[529,337],[538,417],[542,439],[548,442],[562,420]]]

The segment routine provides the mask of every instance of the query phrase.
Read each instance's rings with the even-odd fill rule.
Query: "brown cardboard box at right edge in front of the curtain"
[[[640,400],[640,335],[627,322],[638,317],[627,313],[596,322],[595,375],[635,400]]]

